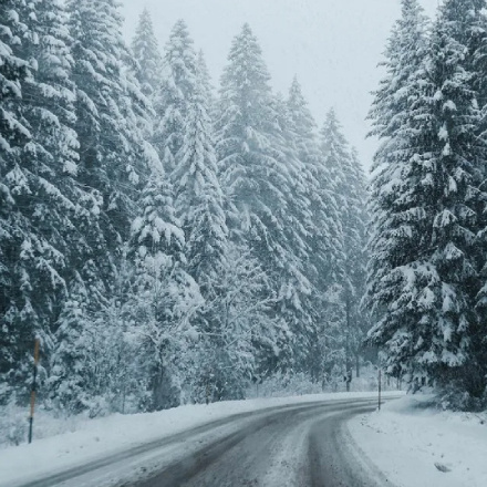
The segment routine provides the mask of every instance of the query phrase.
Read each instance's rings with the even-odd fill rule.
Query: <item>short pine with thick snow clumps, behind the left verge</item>
[[[186,346],[197,336],[191,318],[203,299],[185,270],[184,231],[162,173],[153,172],[139,207],[142,214],[132,225],[129,241],[128,256],[135,259],[136,277],[128,321],[141,346],[141,382],[148,393],[143,406],[157,411],[180,402]]]

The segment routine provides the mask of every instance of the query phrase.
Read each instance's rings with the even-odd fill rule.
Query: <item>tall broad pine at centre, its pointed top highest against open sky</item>
[[[228,214],[230,236],[234,241],[249,245],[252,256],[268,273],[279,294],[276,312],[283,320],[281,312],[287,304],[299,310],[299,291],[308,281],[293,253],[299,229],[290,238],[296,228],[290,225],[293,182],[281,145],[280,115],[261,49],[248,24],[234,39],[228,61],[221,77],[216,124],[221,184],[234,208]],[[281,339],[274,350],[280,348],[281,365],[284,365],[289,335],[283,333]],[[278,358],[272,350],[267,352],[266,369],[272,370]]]

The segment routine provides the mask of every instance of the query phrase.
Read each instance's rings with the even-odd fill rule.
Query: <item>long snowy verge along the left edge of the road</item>
[[[386,393],[397,396],[397,392]],[[79,431],[0,452],[0,486],[31,481],[89,464],[134,446],[164,438],[217,419],[272,407],[375,397],[375,393],[313,394],[299,397],[231,401],[189,405],[151,414],[121,415],[86,421]],[[35,427],[34,427],[35,435]]]

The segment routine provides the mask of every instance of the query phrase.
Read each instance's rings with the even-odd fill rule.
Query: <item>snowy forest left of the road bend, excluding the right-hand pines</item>
[[[69,414],[360,373],[366,179],[333,110],[276,94],[249,25],[218,90],[184,21],[0,4],[0,401]],[[156,21],[156,20],[155,20]]]

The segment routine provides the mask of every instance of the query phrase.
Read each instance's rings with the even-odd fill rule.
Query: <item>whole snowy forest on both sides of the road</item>
[[[3,0],[0,405],[39,338],[68,414],[332,388],[365,358],[484,408],[487,6],[401,4],[367,180],[248,24],[215,86],[183,20],[159,49],[145,10],[128,45],[116,0]]]

